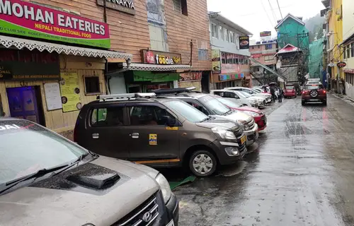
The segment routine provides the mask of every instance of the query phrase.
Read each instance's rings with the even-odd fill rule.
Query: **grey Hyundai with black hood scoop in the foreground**
[[[178,200],[155,169],[24,119],[0,118],[0,139],[1,225],[178,225]]]

